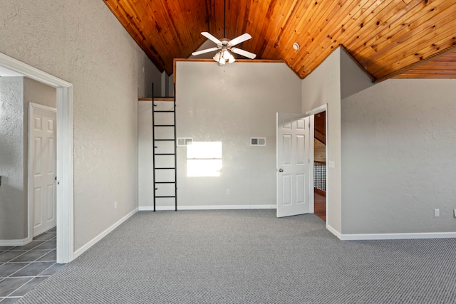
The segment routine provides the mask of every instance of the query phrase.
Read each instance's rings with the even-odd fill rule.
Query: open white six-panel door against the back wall
[[[277,217],[309,212],[309,117],[277,113]]]

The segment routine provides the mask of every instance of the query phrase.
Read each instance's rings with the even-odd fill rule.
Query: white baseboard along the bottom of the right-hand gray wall
[[[456,238],[456,232],[422,232],[410,234],[341,234],[342,241],[356,240],[401,240],[401,239],[450,239]]]

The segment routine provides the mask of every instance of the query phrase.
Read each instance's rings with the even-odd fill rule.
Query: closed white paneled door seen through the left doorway
[[[56,109],[31,104],[28,142],[33,236],[56,226]]]

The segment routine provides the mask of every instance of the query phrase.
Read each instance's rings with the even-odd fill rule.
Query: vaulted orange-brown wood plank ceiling
[[[342,45],[374,80],[455,78],[454,0],[103,0],[160,71],[206,41],[250,33],[240,48],[305,78]],[[226,6],[224,9],[224,5]],[[224,14],[225,21],[224,21]],[[295,51],[293,43],[301,46]],[[398,76],[400,77],[400,76]]]

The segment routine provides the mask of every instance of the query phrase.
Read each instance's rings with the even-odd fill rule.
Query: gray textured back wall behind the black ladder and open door
[[[220,177],[187,177],[187,148],[177,148],[180,206],[276,204],[276,112],[301,111],[300,83],[283,63],[177,62],[177,136],[222,142],[223,162]],[[150,104],[141,108],[143,163],[152,167]],[[266,147],[251,147],[250,137],[266,137]],[[140,206],[151,206],[145,173]]]

